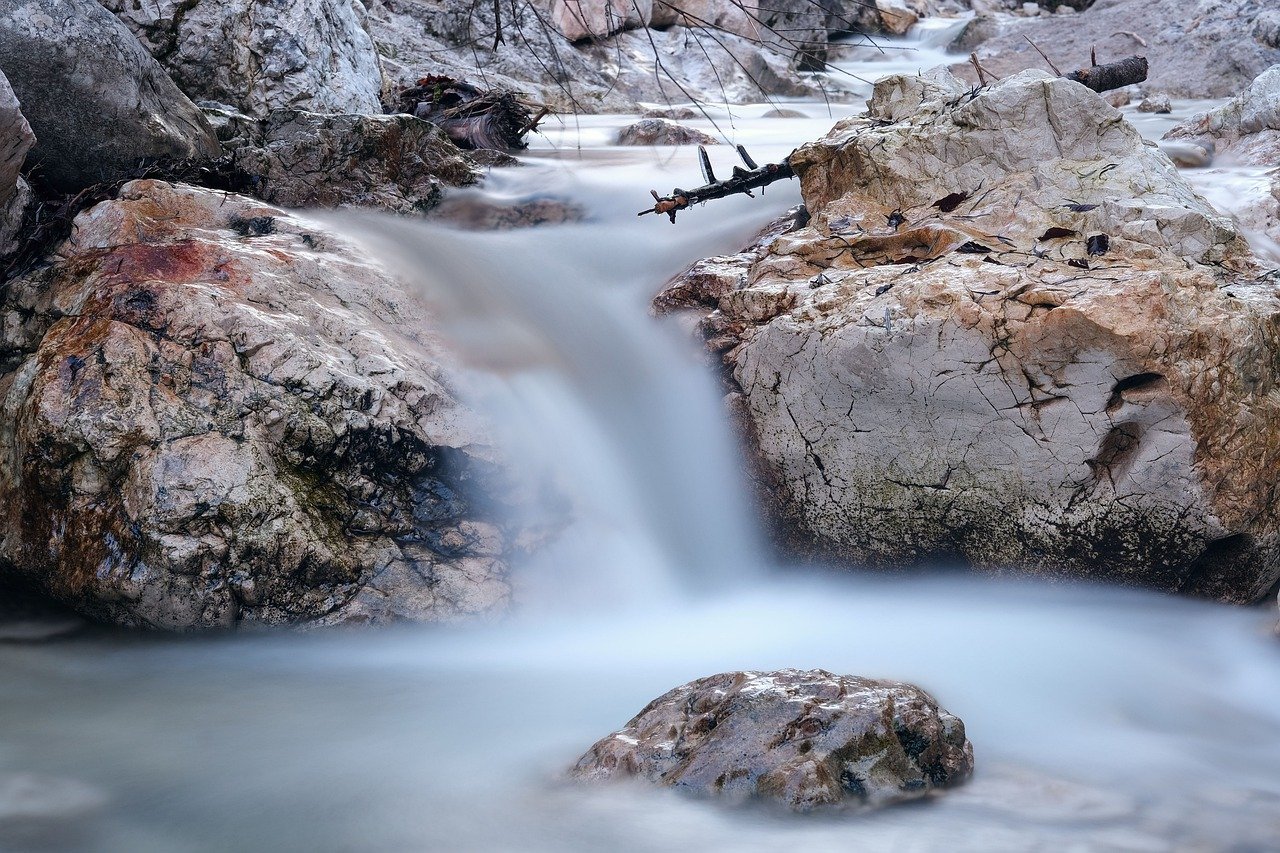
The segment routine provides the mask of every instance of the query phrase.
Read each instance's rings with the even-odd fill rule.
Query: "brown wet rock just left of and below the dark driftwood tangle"
[[[424,213],[443,187],[479,170],[440,128],[412,115],[320,115],[276,110],[247,129],[236,167],[253,195],[287,207],[380,207]]]

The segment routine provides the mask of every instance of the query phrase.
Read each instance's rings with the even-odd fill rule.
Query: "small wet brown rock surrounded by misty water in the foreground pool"
[[[973,774],[973,747],[959,717],[909,684],[722,672],[658,697],[571,772],[796,811],[865,808],[959,785]]]

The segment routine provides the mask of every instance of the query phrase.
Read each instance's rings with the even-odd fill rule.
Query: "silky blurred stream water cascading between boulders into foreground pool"
[[[928,68],[945,42],[934,31],[859,50],[846,70]],[[810,118],[760,118],[767,104],[709,113],[764,161],[852,109],[787,106]],[[736,248],[797,190],[719,201],[676,227],[636,218],[650,187],[700,181],[692,151],[609,146],[631,119],[566,122],[483,193],[566,197],[585,223],[500,234],[342,224],[417,270],[474,368],[474,402],[522,473],[572,503],[571,529],[520,567],[512,617],[0,646],[0,849],[1275,849],[1272,613],[771,562],[716,384],[646,301],[687,261]],[[920,684],[965,720],[974,780],[925,803],[817,817],[563,783],[586,747],[668,688],[777,667]],[[32,827],[5,812],[9,774],[88,788],[49,783],[55,817]]]

